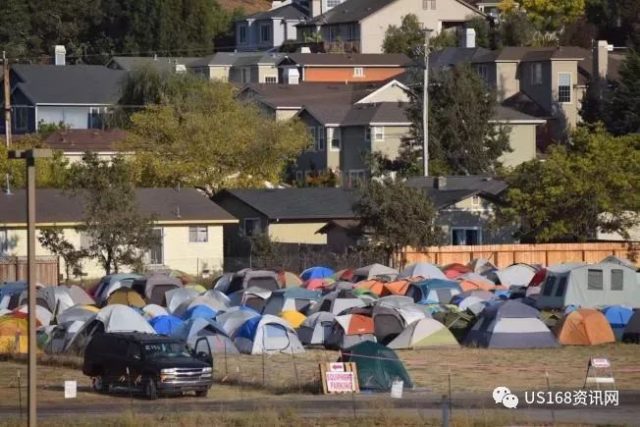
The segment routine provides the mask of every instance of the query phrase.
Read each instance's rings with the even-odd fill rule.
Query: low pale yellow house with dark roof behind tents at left
[[[15,190],[0,193],[0,254],[26,256],[26,194]],[[167,266],[189,274],[221,270],[224,226],[237,220],[193,189],[143,188],[136,191],[140,213],[154,215],[154,231],[160,242],[146,256],[148,267]],[[36,192],[36,227],[61,227],[76,248],[86,247],[88,236],[78,231],[83,208],[80,196],[57,189]],[[51,255],[39,243],[36,255]],[[89,277],[104,274],[93,262],[84,263]]]

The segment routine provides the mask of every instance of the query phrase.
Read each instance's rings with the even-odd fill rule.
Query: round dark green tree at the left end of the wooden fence
[[[363,187],[353,210],[365,235],[386,252],[389,261],[407,246],[423,248],[442,240],[433,203],[403,182],[371,181]]]

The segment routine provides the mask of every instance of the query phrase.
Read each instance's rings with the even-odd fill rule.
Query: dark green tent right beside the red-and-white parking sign
[[[395,351],[375,342],[365,341],[343,351],[340,362],[355,362],[361,390],[387,391],[394,381],[404,387],[413,383]]]

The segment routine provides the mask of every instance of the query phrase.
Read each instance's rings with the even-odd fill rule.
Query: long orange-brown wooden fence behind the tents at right
[[[475,258],[486,258],[496,267],[514,263],[542,264],[562,262],[596,263],[609,255],[627,258],[638,264],[640,243],[545,243],[517,245],[434,246],[423,251],[407,249],[403,253],[407,264],[431,262],[438,265],[467,264]]]

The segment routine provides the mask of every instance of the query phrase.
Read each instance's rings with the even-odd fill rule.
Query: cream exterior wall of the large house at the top
[[[382,53],[382,41],[390,25],[400,26],[402,17],[415,14],[425,28],[442,30],[443,24],[464,22],[482,16],[455,0],[438,0],[435,10],[424,10],[417,0],[396,0],[360,22],[361,53]]]

